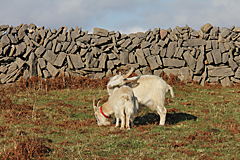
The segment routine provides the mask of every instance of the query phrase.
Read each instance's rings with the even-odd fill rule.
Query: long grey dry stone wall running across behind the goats
[[[240,82],[240,27],[207,23],[199,31],[186,25],[126,35],[102,28],[90,34],[79,27],[0,26],[1,83],[36,75],[103,78],[129,65],[138,75],[164,71],[229,86]]]

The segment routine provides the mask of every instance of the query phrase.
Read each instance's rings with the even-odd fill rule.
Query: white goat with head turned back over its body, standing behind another
[[[128,85],[132,88],[134,95],[137,97],[139,105],[148,106],[150,109],[157,111],[160,116],[160,125],[165,124],[167,110],[164,107],[165,96],[168,90],[174,97],[173,89],[162,78],[155,75],[142,75],[128,78],[134,68],[126,75],[115,75],[107,84],[108,94],[111,95],[115,88],[122,85]]]

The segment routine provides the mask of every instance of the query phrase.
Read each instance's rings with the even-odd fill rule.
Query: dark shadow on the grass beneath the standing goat
[[[167,113],[166,124],[174,125],[178,122],[186,121],[186,120],[197,120],[197,117],[187,113]],[[147,125],[147,124],[159,124],[160,117],[155,113],[147,113],[146,115],[140,117],[136,117],[134,120],[134,124],[136,126],[139,125]]]

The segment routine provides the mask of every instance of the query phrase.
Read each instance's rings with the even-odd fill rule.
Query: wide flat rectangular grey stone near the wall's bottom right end
[[[233,76],[233,70],[228,66],[208,66],[208,74],[212,77],[226,77]]]

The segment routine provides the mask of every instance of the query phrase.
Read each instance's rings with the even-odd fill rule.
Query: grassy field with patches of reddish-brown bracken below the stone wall
[[[97,126],[92,99],[106,82],[1,85],[0,159],[240,159],[239,85],[171,84],[166,125],[140,108],[128,131]]]

